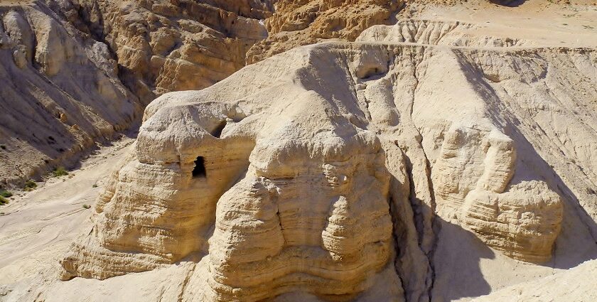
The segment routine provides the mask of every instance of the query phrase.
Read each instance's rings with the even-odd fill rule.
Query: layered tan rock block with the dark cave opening
[[[304,65],[306,61],[297,60],[302,56],[295,52],[277,60]],[[261,80],[272,85],[291,80],[289,75]],[[294,117],[286,126],[279,124],[284,119],[278,114],[268,118],[252,112],[247,117],[249,107],[236,102],[160,109],[159,104],[178,97],[168,94],[152,103],[137,141],[136,160],[119,172],[112,197],[104,195],[98,204],[96,234],[101,235],[90,237],[97,243],[74,249],[63,261],[63,279],[103,279],[205,253],[208,278],[189,282],[203,284],[197,285],[203,289],[194,297],[208,301],[256,301],[299,289],[346,300],[369,291],[373,279],[388,269],[392,284],[399,284],[391,269],[395,254],[389,173],[380,141],[342,115],[326,114],[325,99],[299,87],[288,89],[301,93],[299,98],[309,105],[294,98],[265,104],[274,112],[291,106],[281,112]],[[258,109],[261,99],[254,95],[249,106]],[[306,114],[313,107],[322,108],[313,112],[315,119]],[[192,113],[196,109],[200,115]],[[293,126],[312,122],[319,126]],[[279,130],[259,126],[267,124],[278,124]],[[325,135],[318,129],[327,129]],[[168,133],[179,133],[182,144],[176,149],[171,149],[176,136]],[[151,176],[150,170],[155,171]],[[158,183],[165,187],[156,187],[156,178],[163,179]],[[139,195],[131,199],[131,194]],[[140,199],[155,210],[125,201]],[[148,228],[139,228],[139,222]],[[116,250],[140,253],[111,252]],[[106,261],[102,254],[132,259],[97,270]],[[401,301],[401,289],[395,287],[388,298]]]

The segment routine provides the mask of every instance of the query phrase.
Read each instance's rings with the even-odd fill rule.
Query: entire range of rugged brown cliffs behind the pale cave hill
[[[26,98],[37,108],[48,107],[42,100],[47,98],[63,107],[25,115],[36,121],[33,124],[45,121],[41,137],[31,134],[40,130],[10,123],[13,125],[0,139],[6,146],[0,151],[4,158],[0,183],[17,185],[27,178],[40,178],[48,168],[72,166],[97,141],[127,129],[144,106],[163,93],[209,87],[247,63],[298,45],[354,40],[369,26],[390,23],[399,4],[368,0],[36,0],[0,4],[7,26],[6,33],[0,31],[6,66],[11,63],[38,81],[50,77],[53,86],[29,81],[38,87],[32,88],[37,102],[18,89],[11,95],[4,92],[2,100]],[[33,70],[26,68],[28,65],[36,71],[29,72]],[[2,75],[6,80],[21,77],[10,69]],[[63,104],[67,101],[61,99],[83,109],[67,108]],[[90,116],[75,117],[78,112],[84,116],[90,112]],[[6,119],[19,120],[17,114],[7,114]],[[61,114],[65,119],[60,119]],[[54,118],[61,122],[50,122]],[[77,126],[70,130],[73,124]],[[19,134],[16,128],[27,129],[26,134]],[[14,141],[17,137],[26,143]],[[50,144],[46,137],[58,142],[45,146]],[[20,148],[26,149],[22,158],[16,154]]]

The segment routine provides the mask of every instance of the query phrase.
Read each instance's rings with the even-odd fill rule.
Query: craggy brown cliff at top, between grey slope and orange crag
[[[242,68],[247,50],[267,37],[260,20],[271,14],[269,1],[76,2],[69,14],[84,14],[75,24],[108,43],[122,80],[146,103]]]

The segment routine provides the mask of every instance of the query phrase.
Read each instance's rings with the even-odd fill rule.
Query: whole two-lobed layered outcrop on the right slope
[[[481,136],[466,128],[447,132],[433,176],[439,215],[463,222],[510,257],[548,261],[561,226],[559,195],[536,180],[507,188],[515,172],[513,141],[495,130]]]

